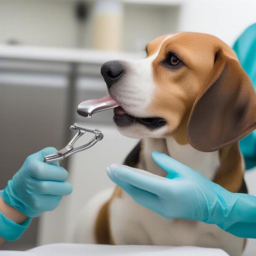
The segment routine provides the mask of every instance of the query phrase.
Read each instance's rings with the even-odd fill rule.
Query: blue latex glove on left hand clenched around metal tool
[[[65,181],[67,171],[56,162],[44,163],[44,156],[56,151],[44,148],[26,158],[6,188],[0,191],[6,204],[33,218],[55,209],[62,196],[72,192],[71,184]]]

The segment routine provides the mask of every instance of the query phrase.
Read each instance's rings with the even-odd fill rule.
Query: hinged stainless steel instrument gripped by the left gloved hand
[[[77,131],[76,135],[73,137],[72,140],[70,140],[70,143],[68,143],[64,148],[57,151],[56,154],[50,154],[46,157],[44,157],[44,162],[46,163],[52,163],[59,160],[63,160],[65,157],[70,156],[71,154],[75,154],[77,152],[83,151],[85,149],[88,149],[95,145],[98,141],[103,139],[103,134],[99,129],[90,130],[87,128],[79,127],[76,123],[70,126],[71,131]],[[79,146],[77,148],[74,148],[74,143],[86,132],[90,132],[94,134],[94,138],[90,140],[87,144]]]

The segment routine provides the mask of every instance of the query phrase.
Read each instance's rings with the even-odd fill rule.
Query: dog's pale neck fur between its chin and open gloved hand
[[[152,172],[163,177],[166,176],[166,172],[154,163],[151,158],[152,151],[159,151],[161,153],[168,154],[211,180],[215,177],[218,167],[220,166],[218,151],[207,153],[201,152],[189,144],[178,144],[173,137],[167,137],[166,139],[144,139],[142,154],[145,169],[148,172]],[[138,167],[143,168],[143,166]]]

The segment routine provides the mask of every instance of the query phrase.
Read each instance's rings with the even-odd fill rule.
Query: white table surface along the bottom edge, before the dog
[[[25,252],[1,251],[1,256],[227,256],[221,249],[148,245],[48,244]]]

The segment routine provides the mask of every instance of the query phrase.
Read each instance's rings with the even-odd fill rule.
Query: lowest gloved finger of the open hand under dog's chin
[[[143,189],[139,189],[135,186],[132,186],[131,184],[120,180],[116,175],[114,175],[111,172],[111,169],[107,167],[106,169],[108,177],[116,183],[118,186],[120,186],[128,195],[131,196],[131,198],[134,199],[138,204],[144,205],[145,207],[148,207],[150,209],[160,209],[163,208],[162,202],[159,200],[158,196],[145,191]]]

